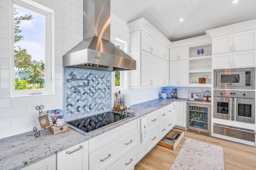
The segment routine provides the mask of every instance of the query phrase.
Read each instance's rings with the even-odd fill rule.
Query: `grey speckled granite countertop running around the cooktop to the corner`
[[[62,150],[87,141],[88,139],[98,136],[106,131],[110,131],[111,129],[121,126],[129,121],[138,119],[139,117],[167,106],[174,101],[188,102],[187,99],[159,98],[132,105],[128,111],[135,112],[136,116],[126,121],[115,123],[112,126],[103,128],[91,133],[90,135],[83,135],[71,128],[69,128],[68,131],[53,135],[50,130],[44,129],[40,131],[39,137],[35,137],[35,132],[30,131],[0,139],[0,169],[19,170]],[[189,101],[189,103],[210,104],[209,102],[200,101]]]

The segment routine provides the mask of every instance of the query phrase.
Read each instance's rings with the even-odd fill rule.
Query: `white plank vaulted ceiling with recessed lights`
[[[170,41],[256,19],[256,0],[111,0],[111,12],[126,23],[145,18]],[[181,18],[184,21],[179,21]]]

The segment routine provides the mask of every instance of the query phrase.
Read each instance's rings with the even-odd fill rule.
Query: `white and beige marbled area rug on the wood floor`
[[[170,170],[224,170],[223,148],[187,138]]]

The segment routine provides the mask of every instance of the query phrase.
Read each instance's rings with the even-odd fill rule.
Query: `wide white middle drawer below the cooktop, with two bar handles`
[[[104,147],[89,154],[89,169],[106,169],[124,156],[129,150],[137,146],[137,129],[134,129],[108,143]]]

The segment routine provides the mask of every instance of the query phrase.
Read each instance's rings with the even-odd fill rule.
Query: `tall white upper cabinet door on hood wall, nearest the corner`
[[[169,84],[169,62],[158,58],[158,85]]]

